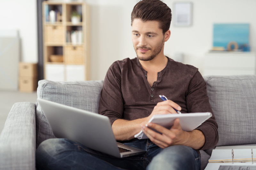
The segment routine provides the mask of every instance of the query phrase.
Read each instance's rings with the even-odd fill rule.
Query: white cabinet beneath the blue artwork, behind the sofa
[[[243,74],[256,74],[255,53],[207,53],[204,57],[204,76]]]

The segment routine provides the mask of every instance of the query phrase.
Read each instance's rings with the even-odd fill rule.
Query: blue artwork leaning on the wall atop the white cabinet
[[[240,51],[249,49],[250,24],[214,24],[213,46],[228,49],[230,42],[237,43]]]

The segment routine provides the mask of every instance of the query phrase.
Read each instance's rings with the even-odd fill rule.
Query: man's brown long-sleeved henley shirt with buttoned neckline
[[[168,57],[167,57],[168,58]],[[168,58],[166,67],[158,72],[150,87],[147,71],[138,58],[118,60],[108,69],[100,94],[99,113],[116,119],[134,120],[147,117],[162,102],[159,95],[180,105],[182,113],[211,112],[212,117],[198,130],[205,136],[202,150],[218,142],[218,126],[206,93],[206,83],[196,67]]]

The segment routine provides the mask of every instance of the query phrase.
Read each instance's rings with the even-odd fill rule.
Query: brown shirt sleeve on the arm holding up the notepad
[[[205,143],[200,150],[215,147],[218,143],[219,138],[218,125],[215,121],[215,116],[209,103],[209,98],[206,91],[206,83],[198,70],[196,71],[195,75],[192,76],[192,79],[189,82],[186,102],[188,107],[188,113],[212,113],[212,117],[210,117],[196,129],[202,131],[205,137]]]

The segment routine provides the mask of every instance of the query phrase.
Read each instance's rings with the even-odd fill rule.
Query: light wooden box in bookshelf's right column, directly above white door
[[[84,64],[82,46],[67,46],[65,56],[66,64]]]

